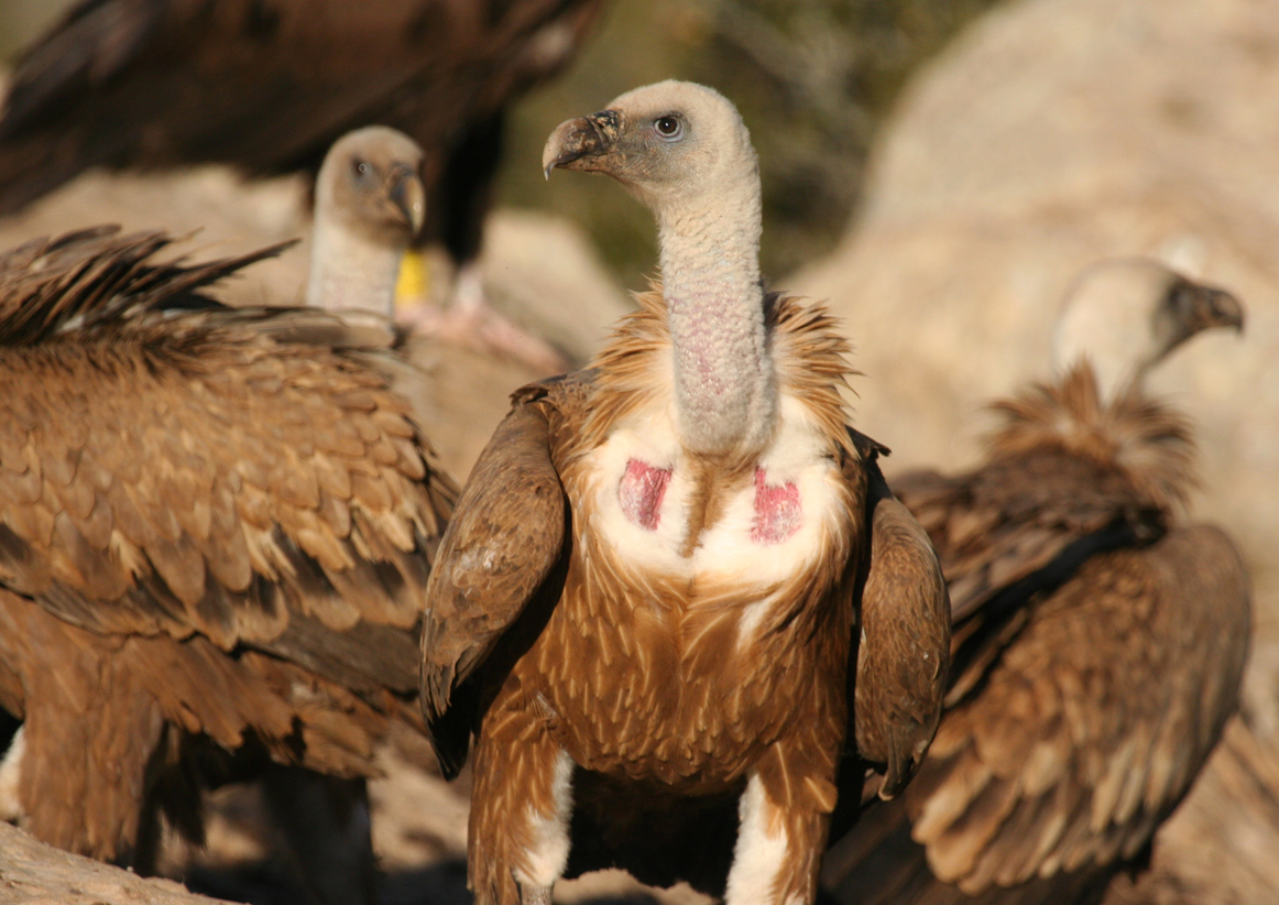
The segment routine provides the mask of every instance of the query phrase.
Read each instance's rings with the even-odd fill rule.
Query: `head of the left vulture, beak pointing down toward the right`
[[[403,132],[370,125],[329,150],[316,179],[316,220],[404,248],[426,218],[422,148]]]

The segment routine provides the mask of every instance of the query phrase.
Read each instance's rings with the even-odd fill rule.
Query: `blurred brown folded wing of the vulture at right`
[[[1102,888],[1184,796],[1234,712],[1248,598],[1239,554],[1214,527],[1090,559],[1031,608],[981,694],[946,712],[914,782],[881,805],[898,817],[839,842],[830,891],[931,904]],[[906,814],[927,869],[898,838]],[[867,874],[881,844],[913,860],[913,879],[884,887]]]

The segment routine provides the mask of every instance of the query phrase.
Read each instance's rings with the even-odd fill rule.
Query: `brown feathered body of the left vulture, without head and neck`
[[[0,259],[0,704],[28,828],[151,867],[157,813],[270,763],[372,772],[416,716],[414,625],[455,495],[385,323],[230,310],[258,255],[162,234]]]

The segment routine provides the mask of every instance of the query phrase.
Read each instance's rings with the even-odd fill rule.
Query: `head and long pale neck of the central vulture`
[[[686,449],[758,449],[776,388],[760,282],[760,170],[737,108],[718,91],[659,82],[561,123],[542,168],[605,173],[648,206]],[[718,337],[711,339],[711,337]]]

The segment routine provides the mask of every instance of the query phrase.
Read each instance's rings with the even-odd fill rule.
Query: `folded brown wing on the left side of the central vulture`
[[[546,412],[517,402],[462,490],[426,590],[422,708],[446,776],[460,769],[472,730],[469,716],[445,721],[454,691],[563,558],[567,513]]]

